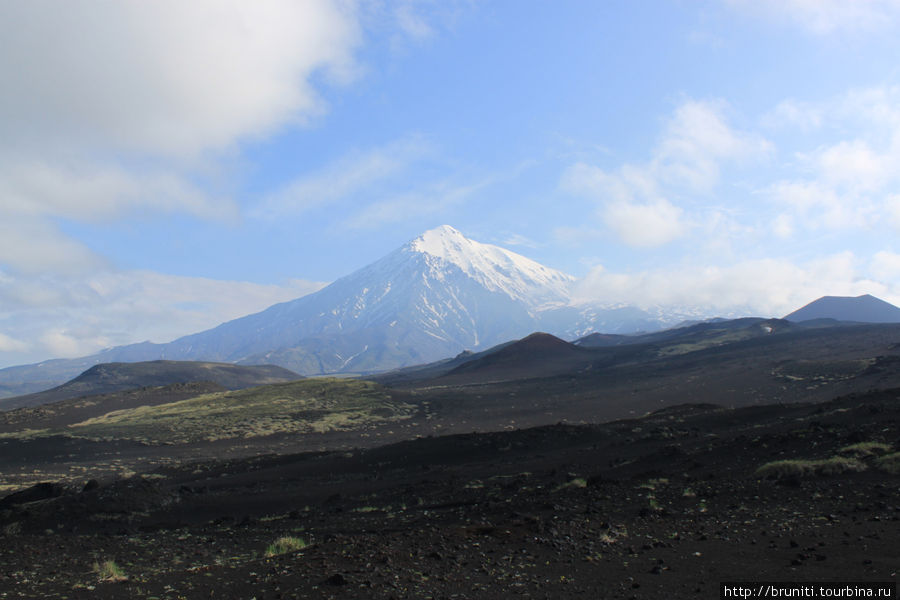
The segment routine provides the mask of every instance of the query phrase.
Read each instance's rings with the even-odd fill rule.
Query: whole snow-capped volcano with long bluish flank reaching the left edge
[[[620,333],[658,328],[658,320],[635,308],[573,306],[574,281],[444,225],[308,296],[167,344],[0,370],[0,386],[29,377],[55,385],[100,362],[157,359],[271,363],[303,375],[364,373],[485,349],[534,331],[571,339],[596,326]]]

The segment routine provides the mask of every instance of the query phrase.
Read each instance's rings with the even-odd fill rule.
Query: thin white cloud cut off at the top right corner
[[[733,6],[774,21],[791,21],[814,34],[894,29],[897,0],[727,0]]]

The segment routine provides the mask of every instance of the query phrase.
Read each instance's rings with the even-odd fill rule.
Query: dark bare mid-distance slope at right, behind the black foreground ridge
[[[735,323],[734,332],[759,329],[747,325]],[[686,332],[660,342],[578,348],[577,354],[535,362],[529,353],[516,352],[494,365],[492,353],[485,352],[444,373],[420,369],[378,379],[429,406],[454,411],[457,431],[470,431],[489,417],[497,419],[495,427],[520,427],[640,415],[684,402],[813,402],[900,387],[900,324],[832,322],[763,335],[721,331],[711,344]],[[537,367],[528,368],[529,362]]]

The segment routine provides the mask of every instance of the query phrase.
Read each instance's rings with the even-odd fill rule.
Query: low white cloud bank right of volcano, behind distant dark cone
[[[740,261],[729,266],[688,265],[616,273],[595,267],[581,282],[583,301],[703,307],[723,316],[781,317],[824,295],[874,294],[900,301],[900,284],[865,276],[851,253],[797,264],[786,259]]]

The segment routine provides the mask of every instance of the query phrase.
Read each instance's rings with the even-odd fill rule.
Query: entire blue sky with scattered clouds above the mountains
[[[0,367],[449,224],[579,300],[900,304],[900,0],[0,0]]]

